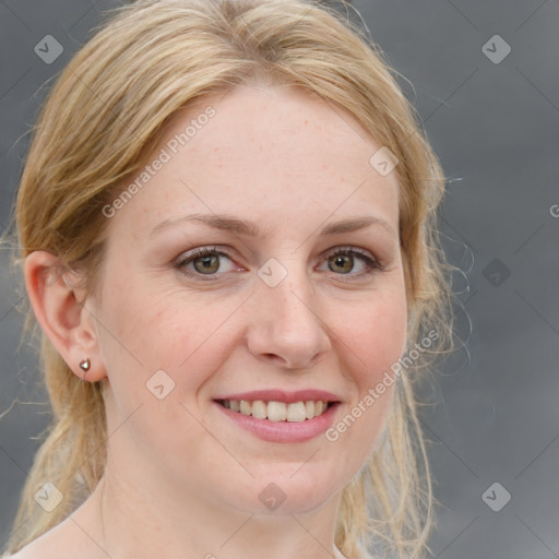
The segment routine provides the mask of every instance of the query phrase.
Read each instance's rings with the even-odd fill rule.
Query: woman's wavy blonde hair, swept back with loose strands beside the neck
[[[36,123],[16,202],[20,258],[55,253],[84,271],[93,292],[106,238],[104,205],[177,111],[251,83],[318,94],[399,159],[407,340],[431,331],[437,340],[403,368],[383,436],[343,491],[335,542],[348,559],[372,540],[377,551],[421,558],[435,500],[413,388],[452,346],[451,266],[436,227],[444,177],[395,72],[355,24],[297,0],[146,0],[116,10],[64,69]],[[102,383],[80,381],[45,335],[41,366],[53,423],[22,492],[9,552],[73,512],[105,466]],[[45,481],[64,496],[52,512],[34,500]]]

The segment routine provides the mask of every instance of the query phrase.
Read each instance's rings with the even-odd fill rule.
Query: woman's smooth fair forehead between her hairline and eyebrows
[[[369,163],[380,147],[348,112],[298,90],[201,97],[175,116],[114,222],[142,229],[203,211],[281,225],[370,207],[395,225],[395,173],[383,177]]]

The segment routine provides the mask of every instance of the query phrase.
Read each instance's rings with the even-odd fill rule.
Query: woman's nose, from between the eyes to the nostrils
[[[253,356],[288,369],[316,365],[331,348],[324,318],[305,273],[288,273],[275,287],[259,282],[251,297],[248,347]]]

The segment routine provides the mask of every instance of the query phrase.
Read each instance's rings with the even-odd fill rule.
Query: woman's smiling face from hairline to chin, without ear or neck
[[[364,465],[392,402],[407,320],[396,174],[309,94],[199,102],[104,210],[88,308],[109,467],[181,502],[316,510]]]

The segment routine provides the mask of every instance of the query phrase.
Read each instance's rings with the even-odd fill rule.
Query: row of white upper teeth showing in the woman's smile
[[[257,400],[249,402],[247,400],[224,400],[224,407],[231,412],[241,413],[242,415],[251,415],[257,419],[269,419],[270,421],[290,421],[300,423],[306,419],[312,419],[322,415],[326,408],[326,402],[314,402],[312,400],[306,402],[263,402]]]

